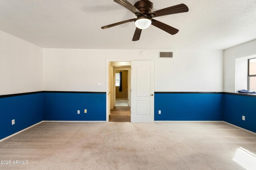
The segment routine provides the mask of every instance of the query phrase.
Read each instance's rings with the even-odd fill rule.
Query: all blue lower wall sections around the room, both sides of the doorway
[[[256,132],[256,97],[155,93],[155,121],[226,121]],[[87,109],[87,113],[84,113]],[[80,110],[80,114],[77,114]],[[158,114],[161,110],[161,114]],[[245,116],[245,121],[242,121]],[[15,119],[15,125],[12,125]],[[40,121],[106,121],[106,93],[36,93],[0,98],[0,139]]]

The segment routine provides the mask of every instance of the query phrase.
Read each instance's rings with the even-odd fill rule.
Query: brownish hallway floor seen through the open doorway
[[[110,122],[130,122],[131,121],[131,108],[116,106],[110,110]]]

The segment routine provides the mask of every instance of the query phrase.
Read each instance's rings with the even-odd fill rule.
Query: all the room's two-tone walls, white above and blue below
[[[158,50],[143,50],[145,55],[141,56],[142,50],[42,49],[1,31],[0,37],[0,95],[46,91],[0,98],[4,130],[0,138],[42,120],[105,121],[107,60],[154,61],[155,91],[172,92],[156,93],[156,121],[224,120],[255,130],[254,110],[250,107],[254,97],[194,92],[222,92],[223,87],[225,92],[234,92],[234,59],[237,57],[233,54],[237,51],[238,57],[255,54],[252,46],[256,41],[227,49],[223,61],[222,50],[171,50],[173,58],[160,59]],[[249,52],[241,54],[241,49]],[[90,93],[83,93],[86,91]],[[191,93],[184,93],[187,91]],[[239,110],[239,106],[250,109]],[[232,108],[236,108],[236,112]],[[162,113],[157,114],[158,110]],[[246,114],[246,121],[242,123],[241,114]],[[252,121],[247,121],[247,117]],[[12,119],[16,119],[15,125],[11,125]]]

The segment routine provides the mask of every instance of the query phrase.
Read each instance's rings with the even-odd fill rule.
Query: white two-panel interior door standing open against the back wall
[[[154,62],[132,61],[131,122],[154,122]]]

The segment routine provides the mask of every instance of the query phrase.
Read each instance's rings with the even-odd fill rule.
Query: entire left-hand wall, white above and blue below
[[[43,120],[42,73],[42,48],[0,31],[0,139]]]

